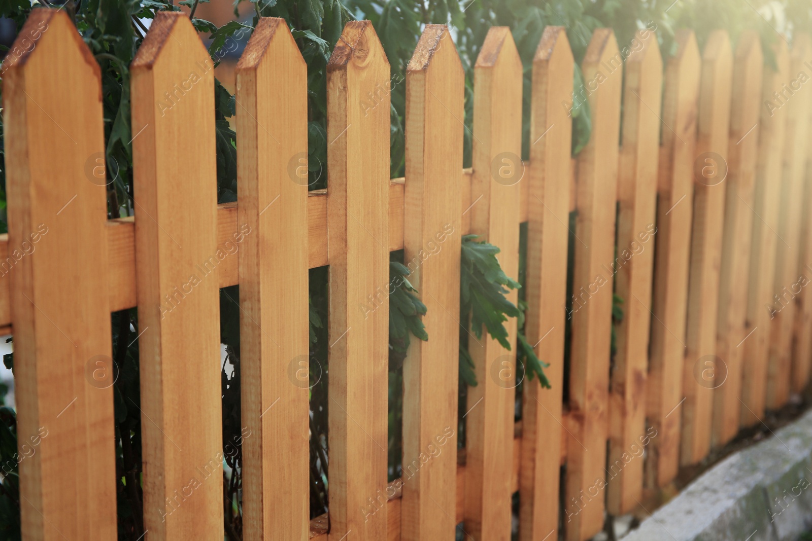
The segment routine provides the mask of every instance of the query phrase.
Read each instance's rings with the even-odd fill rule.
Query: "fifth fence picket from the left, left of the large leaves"
[[[404,360],[404,540],[452,539],[460,347],[460,177],[465,75],[444,24],[426,25],[406,71],[405,261],[429,341]],[[403,221],[401,221],[403,223]],[[421,460],[421,456],[424,457]],[[433,457],[423,464],[426,456]]]

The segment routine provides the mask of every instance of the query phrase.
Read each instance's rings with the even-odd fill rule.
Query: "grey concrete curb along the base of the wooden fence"
[[[623,541],[796,541],[812,529],[812,411],[732,454]]]

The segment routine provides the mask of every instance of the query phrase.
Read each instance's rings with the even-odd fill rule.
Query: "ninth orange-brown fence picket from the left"
[[[637,506],[643,489],[643,461],[629,460],[646,441],[651,280],[657,227],[657,171],[663,58],[657,36],[637,31],[641,44],[626,59],[623,145],[620,148],[615,292],[623,298],[617,353],[611,374],[609,488],[607,510],[621,515]]]

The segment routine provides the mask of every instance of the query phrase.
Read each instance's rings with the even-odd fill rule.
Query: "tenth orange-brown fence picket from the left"
[[[697,133],[699,50],[689,30],[676,32],[663,92],[662,144],[657,198],[651,346],[647,409],[651,440],[650,484],[662,487],[679,469],[680,403],[685,359],[685,310]],[[634,302],[639,302],[633,299]],[[628,307],[627,307],[628,308]]]

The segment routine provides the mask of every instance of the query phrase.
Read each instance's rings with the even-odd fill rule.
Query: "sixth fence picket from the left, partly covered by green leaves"
[[[470,209],[471,232],[498,246],[503,271],[516,277],[519,184],[525,171],[520,160],[522,67],[509,28],[488,31],[473,84],[471,198],[478,202]],[[516,303],[516,290],[507,298]],[[505,322],[505,328],[508,342],[516,344],[516,320]],[[508,541],[516,351],[506,350],[483,329],[481,340],[470,338],[469,352],[477,386],[469,387],[468,394],[465,531],[477,541]],[[508,371],[500,372],[500,366]],[[494,368],[508,377],[492,376]]]

